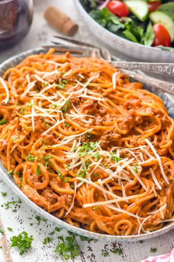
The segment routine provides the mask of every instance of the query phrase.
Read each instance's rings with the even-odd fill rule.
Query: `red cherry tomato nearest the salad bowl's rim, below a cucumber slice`
[[[152,26],[155,34],[155,38],[153,41],[153,46],[170,46],[171,45],[171,37],[167,29],[160,24],[155,24]]]

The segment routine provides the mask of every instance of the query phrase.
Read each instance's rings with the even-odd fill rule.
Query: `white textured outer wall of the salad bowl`
[[[79,15],[84,20],[85,25],[95,36],[109,47],[133,57],[135,60],[157,63],[173,63],[174,52],[161,50],[157,47],[145,46],[131,42],[110,32],[98,24],[83,8],[80,0],[74,0]]]

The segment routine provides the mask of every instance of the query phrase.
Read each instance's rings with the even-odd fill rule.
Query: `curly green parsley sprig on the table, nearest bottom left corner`
[[[18,236],[13,236],[10,238],[10,248],[17,247],[19,249],[20,255],[22,255],[27,249],[31,247],[33,240],[33,236],[29,237],[28,233],[23,231]]]

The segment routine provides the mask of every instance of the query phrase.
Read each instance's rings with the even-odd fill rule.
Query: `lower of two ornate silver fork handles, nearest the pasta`
[[[174,94],[174,84],[170,83],[168,81],[163,81],[154,77],[149,77],[145,74],[136,73],[134,71],[126,70],[126,69],[120,69],[120,72],[126,74],[129,77],[132,77],[138,81],[141,81],[145,84],[151,85],[155,88],[161,89],[164,92]]]

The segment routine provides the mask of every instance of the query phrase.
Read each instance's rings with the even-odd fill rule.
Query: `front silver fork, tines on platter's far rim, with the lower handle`
[[[61,37],[60,39],[65,40],[67,38]],[[71,40],[68,39],[67,42],[71,42]],[[83,43],[83,42],[76,41],[76,40],[73,40],[72,43],[75,43],[75,42],[76,42],[76,46],[65,46],[65,45],[61,45],[59,43],[53,42],[56,45],[43,46],[43,48],[45,48],[47,50],[50,49],[50,48],[54,48],[55,51],[59,52],[59,53],[71,52],[71,53],[75,54],[76,56],[80,56],[80,57],[82,57],[82,56],[83,57],[98,57],[98,58],[101,58],[103,60],[106,60],[106,57],[109,57],[109,56],[111,57],[111,54],[105,48],[99,48],[99,47],[95,47],[95,46],[92,47],[92,45],[88,45],[87,43]],[[77,42],[78,42],[79,45],[77,45]],[[114,57],[112,57],[112,58],[116,59]],[[111,61],[111,59],[110,59],[110,61]],[[112,61],[110,63],[115,63],[115,61],[114,62]],[[127,76],[129,76],[131,78],[134,78],[138,81],[141,81],[143,83],[151,85],[155,88],[161,89],[164,92],[174,94],[174,84],[171,83],[171,82],[163,81],[163,80],[156,79],[156,78],[153,78],[153,77],[149,77],[146,74],[144,74],[142,72],[138,72],[138,71],[130,71],[130,70],[126,70],[126,69],[123,69],[123,68],[119,69],[119,71],[126,74]]]

